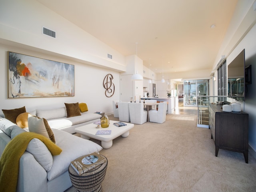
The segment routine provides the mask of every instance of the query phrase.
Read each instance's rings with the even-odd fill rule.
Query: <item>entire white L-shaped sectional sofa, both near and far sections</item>
[[[24,114],[26,118],[22,116],[22,119],[28,125],[28,116],[30,115],[27,113],[32,116],[38,116],[40,120],[43,120],[42,118],[47,120],[50,130],[54,134],[55,144],[62,149],[59,155],[52,156],[43,142],[36,138],[32,139],[19,161],[16,191],[63,192],[72,186],[68,174],[70,162],[80,156],[102,150],[100,145],[73,135],[76,127],[98,122],[100,121],[101,115],[88,111],[81,112],[81,108],[78,108],[78,111],[76,110],[78,113],[72,116],[68,108],[66,103],[61,107],[50,106],[49,108],[44,106],[44,108],[26,109],[24,106],[12,110],[3,110],[6,118],[4,118],[4,114],[0,114],[0,157],[6,145],[16,135],[30,130],[26,126],[23,126],[24,124],[18,123],[20,127],[15,124],[20,122],[17,121],[18,116]],[[12,114],[14,115],[12,116]],[[35,149],[36,151],[31,152],[31,149]]]

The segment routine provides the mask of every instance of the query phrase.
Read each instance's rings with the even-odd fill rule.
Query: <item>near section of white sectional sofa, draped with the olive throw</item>
[[[26,130],[6,118],[0,118],[0,157],[6,145],[22,132]],[[62,152],[52,156],[43,142],[32,139],[30,147],[28,146],[19,161],[17,192],[63,192],[72,186],[68,174],[70,162],[85,154],[102,150],[100,145],[68,132],[54,128],[52,132],[55,144]]]

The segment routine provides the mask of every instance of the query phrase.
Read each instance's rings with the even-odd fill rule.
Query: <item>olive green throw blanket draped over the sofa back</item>
[[[28,143],[33,138],[41,140],[52,155],[58,155],[62,152],[61,148],[40,134],[33,132],[18,134],[6,145],[0,159],[0,192],[16,191],[20,157],[24,154]]]

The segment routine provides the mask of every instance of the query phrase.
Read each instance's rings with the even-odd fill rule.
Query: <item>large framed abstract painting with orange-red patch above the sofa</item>
[[[8,98],[74,96],[74,65],[8,51]]]

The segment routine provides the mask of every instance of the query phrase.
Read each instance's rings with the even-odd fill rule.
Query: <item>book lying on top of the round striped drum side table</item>
[[[106,159],[103,156],[98,153],[92,153],[76,158],[74,161],[70,162],[70,165],[79,175],[82,175],[105,162]]]

